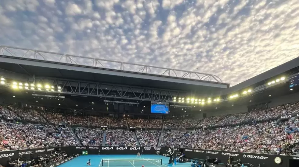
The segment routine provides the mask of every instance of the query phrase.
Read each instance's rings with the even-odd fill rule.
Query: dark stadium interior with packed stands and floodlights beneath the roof
[[[223,89],[215,85],[149,82],[76,69],[4,62],[0,65],[3,65],[0,73],[3,131],[0,133],[5,136],[0,145],[3,151],[0,163],[8,157],[17,159],[13,153],[18,150],[21,151],[16,155],[39,158],[44,166],[56,167],[60,160],[64,159],[67,164],[79,154],[88,155],[87,152],[114,155],[144,149],[147,154],[169,156],[167,150],[172,148],[181,150],[176,157],[178,162],[204,158],[210,167],[216,158],[224,167],[228,155],[249,166],[266,163],[273,167],[293,167],[298,163],[299,85],[289,82],[290,77],[298,78],[297,67],[258,82],[253,78]],[[238,88],[250,82],[253,84]],[[24,89],[25,83],[29,83],[28,87],[34,83],[33,90]],[[198,81],[201,83],[204,82]],[[43,89],[38,90],[38,86]],[[53,90],[47,90],[47,86]],[[179,98],[191,102],[179,102]],[[198,102],[205,101],[196,104],[192,101],[197,102],[195,98]],[[169,103],[169,113],[151,113],[152,101]],[[28,136],[27,130],[37,135],[32,136],[32,141],[25,139],[26,144],[22,145],[19,134]],[[247,147],[247,144],[252,145]],[[31,149],[38,150],[32,153]],[[57,151],[51,152],[52,149]]]

